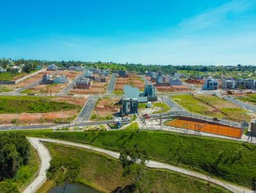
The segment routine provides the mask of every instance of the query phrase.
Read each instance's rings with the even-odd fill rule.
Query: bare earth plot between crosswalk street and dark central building
[[[93,109],[90,120],[103,121],[112,120],[113,114],[120,111],[120,105],[115,105],[120,98],[100,98]]]

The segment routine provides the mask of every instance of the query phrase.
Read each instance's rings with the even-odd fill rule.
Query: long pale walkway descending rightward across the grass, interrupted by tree
[[[80,144],[80,143],[73,143],[73,142],[69,142],[69,141],[60,141],[60,140],[56,140],[56,139],[38,139],[38,138],[29,138],[31,140],[35,140],[35,141],[45,141],[45,142],[50,142],[50,143],[59,143],[59,144],[66,144],[68,146],[76,146],[79,148],[84,148],[84,149],[88,149],[88,150],[93,150],[93,151],[97,151],[100,153],[105,153],[113,158],[119,158],[120,153],[115,152],[115,151],[109,151],[109,150],[104,150],[102,148],[96,148],[94,146],[90,146],[88,144]],[[202,173],[197,173],[195,171],[190,171],[188,169],[184,169],[181,167],[177,167],[177,166],[172,166],[170,164],[164,164],[161,162],[156,162],[154,160],[148,160],[148,162],[146,163],[147,167],[152,167],[152,168],[162,168],[162,169],[168,169],[170,171],[175,171],[177,173],[182,173],[182,174],[186,174],[189,176],[193,176],[196,178],[200,178],[202,180],[206,180],[206,181],[210,181],[211,183],[215,183],[216,185],[220,185],[221,187],[224,187],[225,189],[230,190],[231,192],[246,192],[246,193],[253,193],[253,190],[250,189],[246,189],[244,187],[240,187],[238,185],[233,185],[231,183],[228,183],[227,181],[221,181],[218,180],[216,178],[211,178],[211,176],[207,176],[205,174]]]

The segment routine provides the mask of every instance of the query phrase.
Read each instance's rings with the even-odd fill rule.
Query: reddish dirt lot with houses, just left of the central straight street
[[[72,89],[70,93],[81,94],[81,95],[104,94],[106,92],[106,89],[108,88],[109,80],[110,78],[107,77],[106,82],[93,81],[93,84],[90,89]]]

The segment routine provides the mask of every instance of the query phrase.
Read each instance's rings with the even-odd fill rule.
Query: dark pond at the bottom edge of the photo
[[[50,190],[49,193],[63,193],[62,190],[63,190],[63,186],[54,187]],[[99,193],[99,192],[85,185],[67,183],[65,193]]]

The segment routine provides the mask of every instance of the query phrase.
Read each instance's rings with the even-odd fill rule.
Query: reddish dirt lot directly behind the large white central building
[[[131,86],[140,88],[140,90],[143,90],[145,88],[145,83],[143,82],[143,80],[140,79],[138,75],[129,75],[129,77],[125,77],[125,78],[117,77],[115,90],[123,91],[125,84],[129,84]]]

